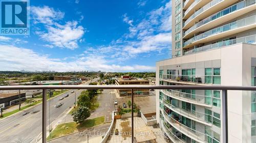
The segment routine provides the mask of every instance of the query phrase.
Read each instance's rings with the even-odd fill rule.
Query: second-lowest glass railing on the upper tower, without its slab
[[[234,22],[225,24],[223,26],[214,28],[212,30],[209,30],[207,32],[204,32],[200,35],[197,35],[197,36],[187,40],[186,42],[184,42],[184,46],[187,46],[188,44],[191,44],[191,43],[196,42],[198,40],[207,38],[209,36],[213,36],[213,35],[217,35],[217,34],[220,34],[220,33],[223,33],[223,32],[235,30],[236,28],[240,28],[240,27],[247,26],[247,25],[250,25],[250,24],[255,24],[255,22],[256,22],[256,15],[253,15],[253,16],[250,16],[250,17],[238,20],[238,21],[234,21]]]

